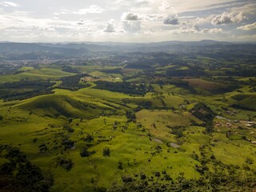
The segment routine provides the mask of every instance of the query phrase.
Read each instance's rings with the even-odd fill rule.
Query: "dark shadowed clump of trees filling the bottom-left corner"
[[[17,147],[0,145],[0,191],[47,192],[54,184],[50,173],[43,174]]]

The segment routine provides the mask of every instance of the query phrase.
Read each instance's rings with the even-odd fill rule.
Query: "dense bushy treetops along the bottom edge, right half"
[[[234,168],[232,168],[232,171]],[[166,180],[167,182],[148,182],[145,180],[138,180],[139,178],[130,178],[124,180],[125,183],[122,186],[112,186],[109,190],[104,190],[101,188],[101,191],[109,192],[121,192],[121,191],[133,191],[133,192],[230,192],[230,191],[243,191],[251,192],[255,190],[255,179],[256,174],[253,172],[244,172],[243,170],[234,170],[234,174],[228,172],[207,172],[204,177],[199,179],[187,179],[181,173],[178,178],[173,178],[162,175],[159,179]],[[144,178],[144,177],[143,177]],[[168,182],[169,181],[169,182]],[[97,189],[96,189],[97,190]]]

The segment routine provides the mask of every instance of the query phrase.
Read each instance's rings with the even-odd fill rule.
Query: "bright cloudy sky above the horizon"
[[[256,42],[256,0],[0,0],[0,41]]]

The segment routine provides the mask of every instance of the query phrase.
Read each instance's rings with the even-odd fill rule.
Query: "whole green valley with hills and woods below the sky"
[[[7,46],[0,190],[256,189],[255,44]]]

